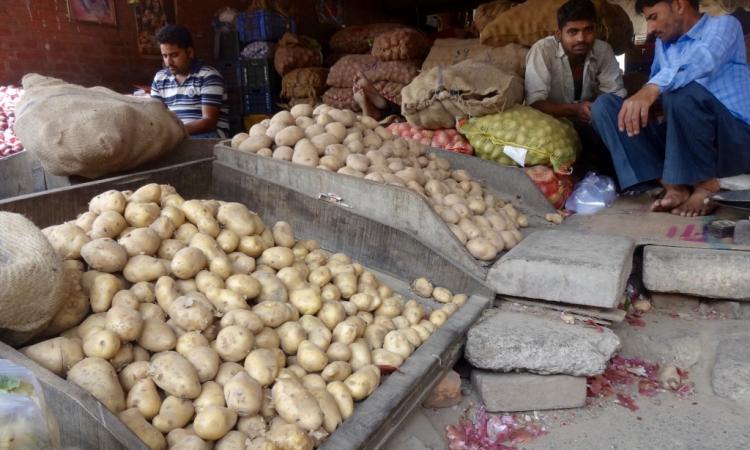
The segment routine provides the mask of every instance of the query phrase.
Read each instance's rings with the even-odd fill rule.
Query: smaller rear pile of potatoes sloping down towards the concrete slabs
[[[475,258],[516,246],[528,218],[495,198],[465,170],[426,146],[393,136],[374,119],[326,105],[297,105],[232,138],[233,148],[295,164],[408,188],[423,196]]]

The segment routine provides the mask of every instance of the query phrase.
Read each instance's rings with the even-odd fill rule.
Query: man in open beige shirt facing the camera
[[[596,38],[590,0],[570,0],[557,11],[558,31],[531,47],[526,57],[526,104],[568,118],[581,137],[583,159],[614,175],[609,154],[591,126],[591,102],[601,94],[624,97],[612,47]]]

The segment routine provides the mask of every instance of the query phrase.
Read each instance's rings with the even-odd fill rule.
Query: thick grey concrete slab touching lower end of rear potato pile
[[[489,271],[501,295],[614,308],[633,265],[632,239],[574,231],[533,233]]]

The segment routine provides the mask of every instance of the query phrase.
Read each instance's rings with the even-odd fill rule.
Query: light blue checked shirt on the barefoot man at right
[[[649,83],[672,92],[693,81],[750,124],[750,68],[736,18],[704,14],[674,43],[657,39]]]

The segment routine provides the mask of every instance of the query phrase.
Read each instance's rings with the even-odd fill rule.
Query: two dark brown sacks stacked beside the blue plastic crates
[[[322,67],[323,52],[312,38],[286,33],[274,54],[274,67],[282,76],[281,97],[291,105],[314,105],[323,96],[328,69]]]

